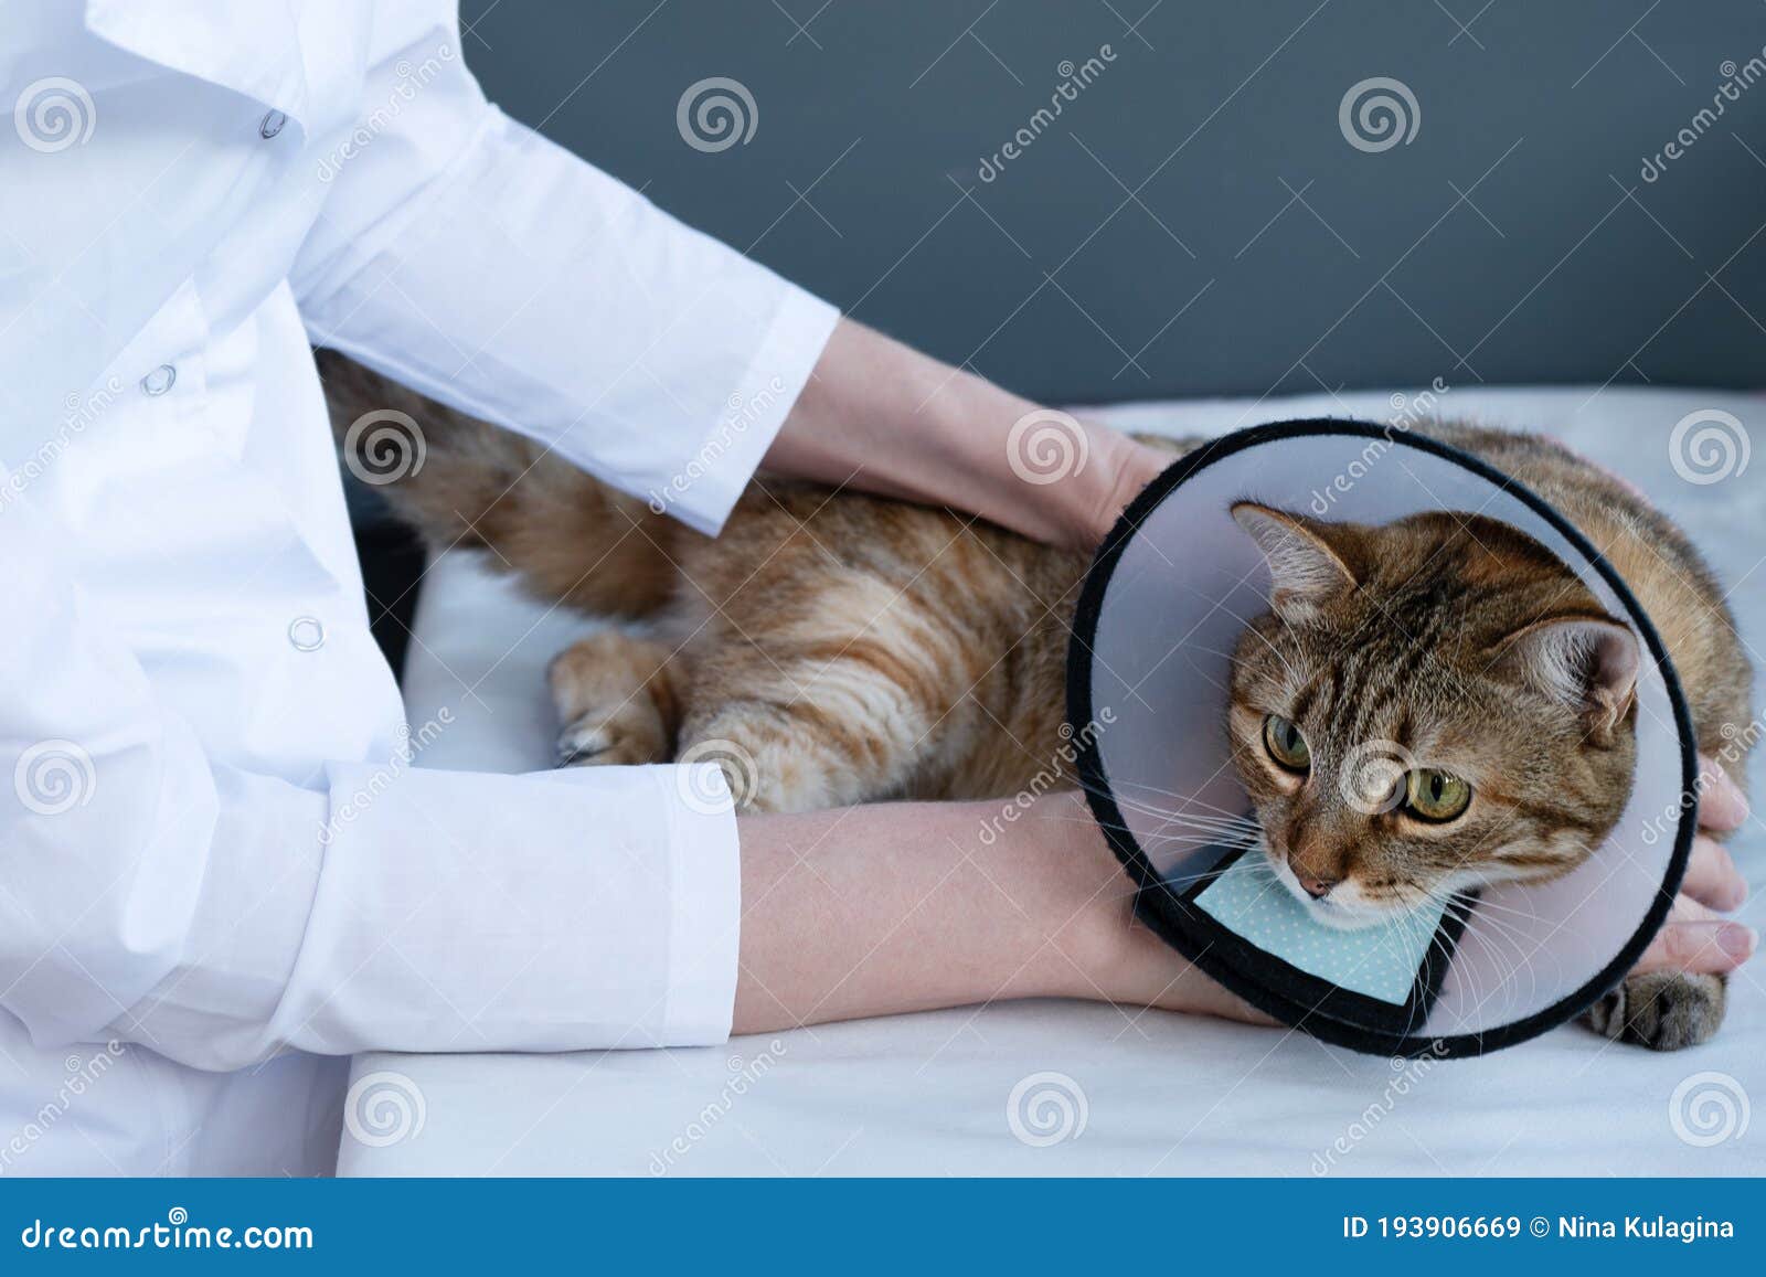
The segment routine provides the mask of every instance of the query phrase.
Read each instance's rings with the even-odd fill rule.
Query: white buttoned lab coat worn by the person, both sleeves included
[[[834,311],[438,0],[11,0],[0,85],[0,1175],[323,1173],[350,1053],[721,1040],[706,777],[406,765],[307,341],[715,532]]]

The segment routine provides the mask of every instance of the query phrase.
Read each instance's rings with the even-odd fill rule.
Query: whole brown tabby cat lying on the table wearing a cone
[[[738,809],[777,812],[1074,782],[1065,664],[1090,555],[765,475],[710,539],[532,440],[321,366],[346,447],[367,410],[419,422],[424,465],[380,491],[431,549],[487,548],[540,599],[622,622],[551,662],[560,765],[710,759]],[[1701,749],[1743,784],[1752,669],[1690,540],[1542,436],[1418,433],[1513,475],[1605,555],[1662,634]],[[1363,526],[1240,502],[1233,518],[1275,581],[1233,654],[1233,761],[1316,917],[1358,926],[1556,876],[1602,843],[1630,786],[1639,652],[1556,558],[1464,512]],[[1369,742],[1420,761],[1340,774]],[[1676,1049],[1709,1039],[1724,1003],[1720,977],[1630,975],[1588,1023]]]

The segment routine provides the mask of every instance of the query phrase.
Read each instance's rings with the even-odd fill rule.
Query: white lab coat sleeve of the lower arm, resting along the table
[[[223,767],[0,470],[0,1009],[41,1046],[203,1069],[286,1049],[721,1042],[736,825],[715,768]]]

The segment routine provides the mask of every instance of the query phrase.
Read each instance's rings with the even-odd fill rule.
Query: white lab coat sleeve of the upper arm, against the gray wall
[[[376,21],[362,120],[313,143],[313,341],[715,533],[835,309],[486,102],[450,5]]]

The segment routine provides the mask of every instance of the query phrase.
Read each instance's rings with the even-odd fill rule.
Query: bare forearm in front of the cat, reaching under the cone
[[[1132,920],[1077,793],[743,816],[736,1033],[1010,998],[1264,1021]]]

